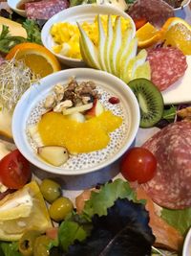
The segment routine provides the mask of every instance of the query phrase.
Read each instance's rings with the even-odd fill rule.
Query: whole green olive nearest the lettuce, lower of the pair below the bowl
[[[63,221],[73,211],[73,202],[69,198],[57,198],[49,209],[53,221]]]

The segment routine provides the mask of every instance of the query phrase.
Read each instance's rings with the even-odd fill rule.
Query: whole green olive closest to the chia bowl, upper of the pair
[[[61,196],[61,186],[50,178],[45,178],[40,184],[43,197],[50,203]]]

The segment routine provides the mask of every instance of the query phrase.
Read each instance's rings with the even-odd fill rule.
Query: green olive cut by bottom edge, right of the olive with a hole
[[[33,246],[33,256],[48,256],[50,255],[49,244],[51,239],[46,235],[36,238]]]

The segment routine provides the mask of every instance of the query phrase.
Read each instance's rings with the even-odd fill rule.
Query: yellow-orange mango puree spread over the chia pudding
[[[45,146],[63,146],[71,153],[102,150],[110,142],[109,133],[119,128],[122,118],[111,111],[78,123],[61,113],[48,112],[38,123]]]

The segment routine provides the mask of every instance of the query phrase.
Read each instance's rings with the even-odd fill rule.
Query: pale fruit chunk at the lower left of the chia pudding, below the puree
[[[43,146],[37,149],[37,153],[46,162],[53,166],[61,166],[69,159],[69,153],[66,148],[61,146]]]

